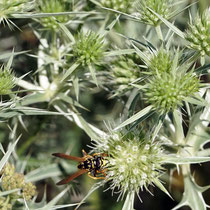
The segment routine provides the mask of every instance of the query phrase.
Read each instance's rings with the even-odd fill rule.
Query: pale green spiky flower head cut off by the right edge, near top
[[[185,37],[190,48],[198,50],[201,56],[210,56],[210,8],[191,20]]]

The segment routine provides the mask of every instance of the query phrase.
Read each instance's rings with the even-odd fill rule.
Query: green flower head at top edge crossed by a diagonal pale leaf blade
[[[171,15],[171,0],[137,0],[135,4],[141,21],[146,24],[157,26],[160,23],[160,19],[151,10],[165,19]]]

